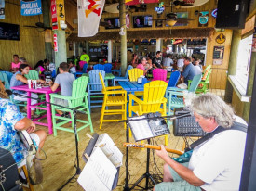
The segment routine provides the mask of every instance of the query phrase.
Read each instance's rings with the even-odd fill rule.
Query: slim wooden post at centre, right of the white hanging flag
[[[122,76],[125,75],[127,65],[128,65],[128,57],[127,57],[127,26],[126,26],[126,5],[125,0],[119,0],[120,10],[119,10],[119,18],[120,18],[120,31],[123,30],[124,35],[120,35],[121,39],[121,73]]]

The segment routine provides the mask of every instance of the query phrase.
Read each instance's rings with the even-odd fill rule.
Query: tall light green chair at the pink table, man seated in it
[[[92,122],[90,118],[90,112],[88,108],[88,93],[86,92],[88,86],[88,77],[82,76],[76,79],[73,82],[73,89],[72,89],[72,96],[61,96],[58,94],[50,94],[50,102],[54,103],[55,98],[61,98],[68,102],[67,108],[61,108],[52,105],[51,112],[52,112],[52,123],[53,123],[53,134],[54,136],[57,135],[57,130],[62,130],[66,132],[74,133],[74,113],[71,109],[68,108],[75,108],[77,110],[81,110],[87,113],[88,121],[77,119],[77,122],[83,123],[82,126],[77,127],[77,133],[86,127],[90,127],[90,132],[93,133]],[[61,116],[56,115],[56,109],[61,110],[62,112],[69,112],[71,114],[71,118],[64,118]],[[57,119],[61,119],[63,121],[56,123]],[[84,119],[84,117],[83,117]],[[64,124],[71,122],[71,127],[63,127]],[[78,134],[77,134],[78,138]]]

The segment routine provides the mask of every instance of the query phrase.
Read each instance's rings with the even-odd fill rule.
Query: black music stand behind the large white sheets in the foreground
[[[86,147],[85,151],[83,152],[83,156],[82,156],[82,158],[85,160],[85,162],[88,161],[88,159],[85,157],[85,154],[87,154],[88,157],[91,155],[92,150],[93,150],[98,138],[99,138],[99,134],[94,133],[92,135],[92,138],[89,140],[88,146]],[[117,170],[117,172],[115,174],[115,180],[114,180],[114,183],[112,186],[112,190],[114,190],[115,187],[117,186],[120,167],[117,167],[116,170]]]

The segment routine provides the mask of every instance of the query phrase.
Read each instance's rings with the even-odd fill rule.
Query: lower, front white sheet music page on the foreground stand
[[[102,184],[105,185],[105,189],[99,190],[112,190],[116,172],[115,166],[107,159],[101,148],[96,147],[77,181],[87,191],[98,190]]]

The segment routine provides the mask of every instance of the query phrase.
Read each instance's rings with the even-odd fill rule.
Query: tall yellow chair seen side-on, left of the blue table
[[[102,94],[104,94],[101,108],[100,130],[103,122],[116,122],[127,119],[127,91],[121,86],[106,87],[101,73],[99,73],[102,83]],[[115,95],[115,96],[114,96]],[[115,107],[110,109],[110,107]],[[108,109],[105,109],[108,107]],[[116,108],[121,107],[121,108]],[[119,120],[104,120],[104,115],[122,115]]]

